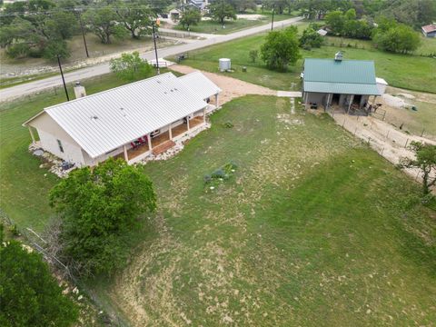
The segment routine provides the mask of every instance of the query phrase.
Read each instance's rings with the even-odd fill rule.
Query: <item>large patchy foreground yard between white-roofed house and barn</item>
[[[418,185],[329,117],[290,115],[283,99],[234,100],[212,124],[145,166],[154,229],[96,287],[133,325],[434,322],[436,213]],[[204,188],[229,161],[231,180]]]

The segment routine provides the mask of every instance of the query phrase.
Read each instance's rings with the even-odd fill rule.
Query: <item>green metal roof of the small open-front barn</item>
[[[365,60],[307,58],[303,89],[318,93],[379,94],[374,62]]]

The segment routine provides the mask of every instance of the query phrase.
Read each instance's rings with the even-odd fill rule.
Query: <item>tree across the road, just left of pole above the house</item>
[[[138,39],[141,35],[151,34],[154,13],[146,5],[119,3],[115,10],[118,21],[124,24],[133,38]]]

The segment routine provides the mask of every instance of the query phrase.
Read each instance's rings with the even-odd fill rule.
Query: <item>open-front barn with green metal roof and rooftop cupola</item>
[[[331,106],[347,113],[360,110],[371,95],[381,95],[373,61],[306,58],[302,74],[302,98],[306,107]]]

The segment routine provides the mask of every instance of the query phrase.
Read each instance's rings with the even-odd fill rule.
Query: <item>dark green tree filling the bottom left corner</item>
[[[62,294],[41,255],[22,243],[0,244],[0,325],[71,326],[78,309]]]

